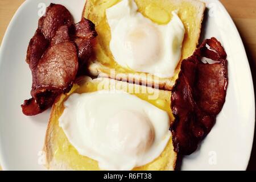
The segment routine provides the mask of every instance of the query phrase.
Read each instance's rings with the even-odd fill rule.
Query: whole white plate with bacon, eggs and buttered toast
[[[245,170],[255,103],[217,0],[27,0],[0,49],[5,170]]]

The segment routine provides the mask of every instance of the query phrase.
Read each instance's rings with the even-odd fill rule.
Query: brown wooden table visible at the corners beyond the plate
[[[245,45],[256,93],[256,0],[220,0],[232,16]],[[15,11],[24,0],[0,0],[0,43]],[[245,90],[246,92],[246,90]],[[249,170],[256,170],[256,137]]]

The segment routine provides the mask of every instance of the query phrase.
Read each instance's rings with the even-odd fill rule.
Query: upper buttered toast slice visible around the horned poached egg
[[[98,33],[94,45],[95,57],[89,61],[88,72],[92,76],[109,77],[115,80],[171,90],[180,71],[180,63],[177,64],[173,77],[159,78],[150,73],[135,72],[129,68],[121,67],[114,61],[109,48],[111,32],[106,20],[105,10],[119,1],[121,0],[88,0],[85,3],[83,16],[96,25]],[[185,27],[180,60],[192,55],[200,38],[201,23],[205,11],[204,2],[196,0],[135,0],[135,2],[140,13],[160,24],[163,19],[169,18],[171,20],[171,12],[177,10],[177,14]],[[151,11],[148,11],[148,6],[153,7]]]

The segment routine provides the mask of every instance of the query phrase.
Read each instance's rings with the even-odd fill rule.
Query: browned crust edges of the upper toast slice
[[[204,19],[205,3],[201,2],[201,1],[197,1],[197,0],[168,0],[168,1],[172,1],[174,3],[189,2],[189,3],[192,3],[192,5],[194,5],[196,7],[197,18],[200,19],[199,24],[198,24],[199,31],[197,31],[197,34],[195,35],[196,40],[197,40],[197,42],[196,42],[196,47],[197,47],[197,45],[199,43],[199,39],[200,39],[201,24]],[[86,1],[85,6],[84,6],[84,13],[83,13],[85,18],[89,14],[89,6],[90,6],[89,1]],[[195,49],[196,49],[196,47],[195,47]],[[195,51],[195,49],[193,51]],[[191,56],[191,55],[189,55],[189,56]],[[98,77],[108,77],[108,78],[112,78],[112,79],[119,80],[119,81],[133,82],[135,84],[152,85],[153,88],[156,88],[156,86],[154,86],[154,85],[157,85],[158,89],[172,90],[172,87],[175,84],[175,80],[176,80],[177,75],[180,70],[180,65],[181,65],[181,60],[179,61],[179,63],[177,64],[177,67],[175,69],[176,76],[172,77],[172,78],[159,78],[156,76],[152,76],[150,73],[144,73],[147,75],[146,77],[139,77],[137,73],[135,73],[135,74],[120,73],[117,70],[115,70],[114,75],[110,75],[109,73],[104,72],[104,70],[108,70],[110,68],[101,64],[97,60],[90,60],[90,62],[88,64],[88,73],[90,76],[94,76],[94,77],[97,77],[97,76]],[[122,75],[122,76],[119,76],[119,75]],[[153,79],[147,79],[148,77],[153,77]]]

